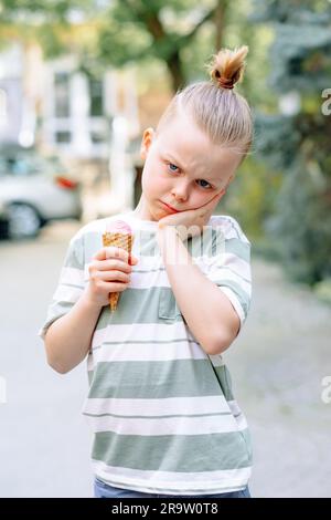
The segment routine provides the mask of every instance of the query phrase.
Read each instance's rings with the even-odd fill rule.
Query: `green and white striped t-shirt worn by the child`
[[[252,469],[246,419],[222,356],[203,351],[181,314],[160,256],[158,222],[129,211],[83,227],[70,242],[40,335],[82,295],[102,233],[116,219],[131,227],[139,260],[117,310],[102,309],[87,356],[83,414],[93,430],[94,472],[111,486],[147,493],[243,489]],[[250,303],[250,243],[239,225],[213,216],[203,235],[184,243],[243,325]]]

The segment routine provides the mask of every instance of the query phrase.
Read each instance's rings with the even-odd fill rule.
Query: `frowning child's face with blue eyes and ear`
[[[211,143],[186,115],[172,118],[158,135],[147,128],[141,157],[139,211],[147,220],[160,220],[174,212],[171,208],[196,209],[224,194],[242,160],[235,150]]]

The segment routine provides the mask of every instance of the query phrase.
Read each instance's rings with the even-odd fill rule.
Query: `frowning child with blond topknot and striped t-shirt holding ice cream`
[[[71,240],[40,335],[60,373],[87,355],[96,497],[249,497],[249,434],[221,354],[247,316],[250,243],[212,216],[252,143],[233,90],[247,51],[220,51],[212,82],[178,92],[145,131],[137,208]],[[118,219],[130,257],[102,247]]]

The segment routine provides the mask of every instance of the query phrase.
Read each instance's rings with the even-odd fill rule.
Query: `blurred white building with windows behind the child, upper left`
[[[44,61],[36,44],[13,44],[0,53],[0,144],[38,144],[74,162],[108,160],[111,193],[104,204],[130,208],[127,147],[139,134],[132,74],[108,70],[92,77],[76,55]]]

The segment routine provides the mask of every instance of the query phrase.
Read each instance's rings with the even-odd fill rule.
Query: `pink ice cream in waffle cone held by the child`
[[[131,250],[134,243],[134,235],[130,226],[124,220],[114,220],[106,227],[106,232],[103,233],[103,246],[115,246],[122,248],[129,253],[129,262],[131,258]],[[109,293],[109,304],[111,312],[116,311],[119,299],[119,292]]]

